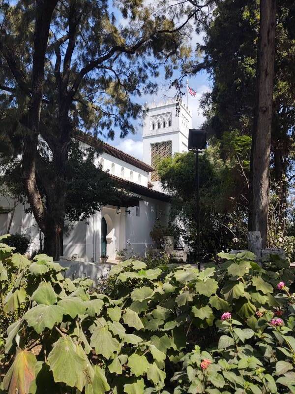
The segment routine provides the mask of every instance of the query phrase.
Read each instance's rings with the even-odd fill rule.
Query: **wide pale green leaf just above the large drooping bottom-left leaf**
[[[53,328],[55,324],[62,322],[63,309],[59,305],[36,305],[25,313],[24,319],[28,326],[40,334],[44,328]]]

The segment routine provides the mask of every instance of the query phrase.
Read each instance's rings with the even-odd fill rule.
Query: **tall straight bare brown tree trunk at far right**
[[[260,231],[267,244],[269,156],[275,61],[276,0],[260,1],[257,53],[257,98],[251,149],[250,209],[248,228]]]

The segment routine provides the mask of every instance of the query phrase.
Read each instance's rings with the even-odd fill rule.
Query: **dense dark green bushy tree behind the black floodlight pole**
[[[245,179],[236,154],[245,167],[249,140],[236,136],[227,141],[227,150],[234,159],[220,160],[218,147],[200,155],[200,223],[202,256],[220,250],[245,246],[247,209],[244,206]],[[172,194],[172,216],[179,218],[179,233],[196,250],[196,178],[193,152],[177,153],[158,164],[163,187]],[[246,169],[244,169],[246,171]]]

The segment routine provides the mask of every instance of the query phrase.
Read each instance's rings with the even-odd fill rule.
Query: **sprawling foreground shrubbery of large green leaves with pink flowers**
[[[120,263],[111,299],[87,278],[64,278],[48,256],[29,261],[0,244],[3,307],[19,314],[7,330],[13,357],[1,389],[295,393],[295,299],[281,281],[288,267],[276,260],[277,269],[265,269],[251,253],[220,257],[221,268],[201,272]]]

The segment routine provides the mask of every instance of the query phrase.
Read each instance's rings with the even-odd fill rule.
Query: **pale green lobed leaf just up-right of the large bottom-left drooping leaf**
[[[97,354],[103,355],[109,359],[115,352],[119,352],[121,345],[113,337],[108,326],[96,327],[90,338],[90,346],[95,348]]]

